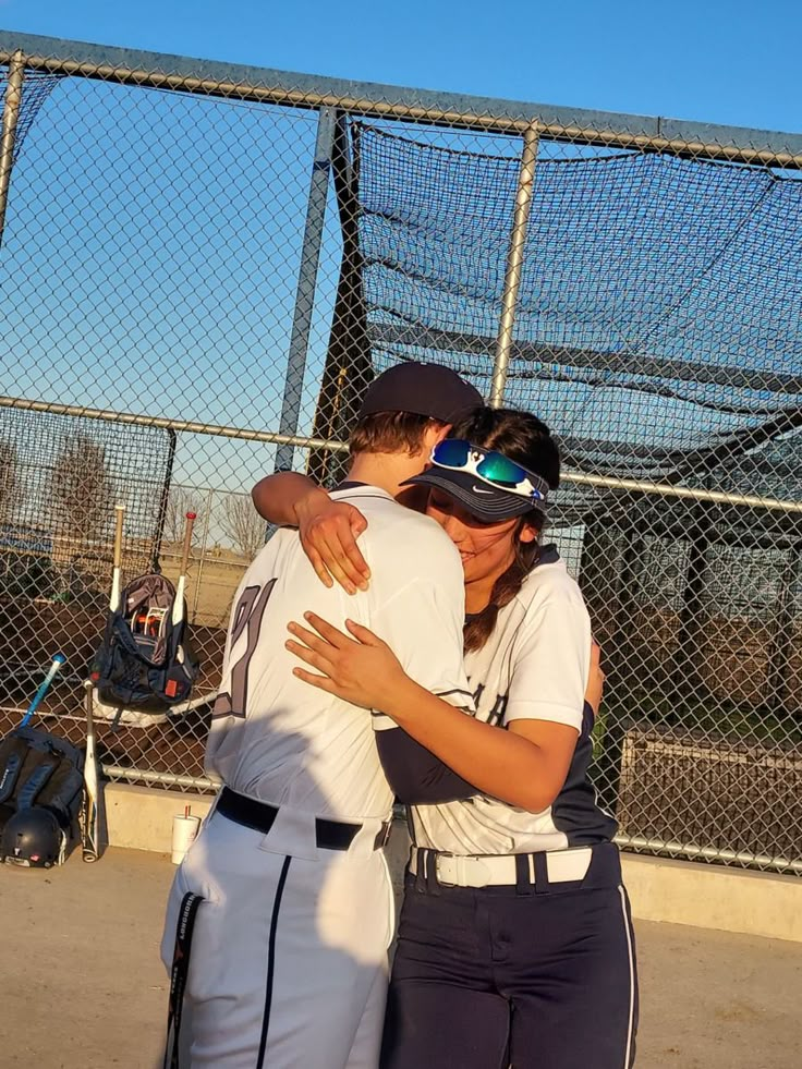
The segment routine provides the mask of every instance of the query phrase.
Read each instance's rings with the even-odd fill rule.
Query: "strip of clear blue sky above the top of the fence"
[[[789,47],[802,34],[795,0],[0,0],[0,26],[304,73],[802,131]]]

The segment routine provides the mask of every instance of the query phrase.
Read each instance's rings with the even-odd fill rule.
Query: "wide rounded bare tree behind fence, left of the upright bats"
[[[53,464],[50,498],[56,522],[72,542],[102,535],[114,500],[104,447],[85,435],[72,437]]]

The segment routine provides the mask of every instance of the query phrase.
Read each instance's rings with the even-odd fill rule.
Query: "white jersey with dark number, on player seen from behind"
[[[337,583],[328,590],[297,533],[274,535],[236,592],[206,767],[232,790],[275,805],[335,819],[385,819],[392,791],[374,738],[382,718],[293,676],[302,663],[284,648],[287,624],[303,624],[306,610],[342,630],[347,618],[356,620],[389,643],[422,687],[470,705],[463,573],[440,527],[384,490],[352,484],[332,498],[367,520],[360,548],[369,590],[353,596]]]

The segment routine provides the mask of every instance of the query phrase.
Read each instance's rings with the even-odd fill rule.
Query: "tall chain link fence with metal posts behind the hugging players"
[[[190,571],[192,709],[107,775],[209,789],[247,491],[337,478],[374,375],[446,363],[540,415],[549,539],[608,687],[624,847],[802,872],[802,137],[0,33],[2,728],[54,648],[81,737],[112,503]]]

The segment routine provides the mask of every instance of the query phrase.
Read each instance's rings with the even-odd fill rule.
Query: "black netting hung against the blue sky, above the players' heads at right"
[[[487,385],[519,157],[354,137],[375,357],[442,360]],[[801,242],[794,178],[542,145],[507,402],[554,424],[584,471],[731,464],[800,418]]]

